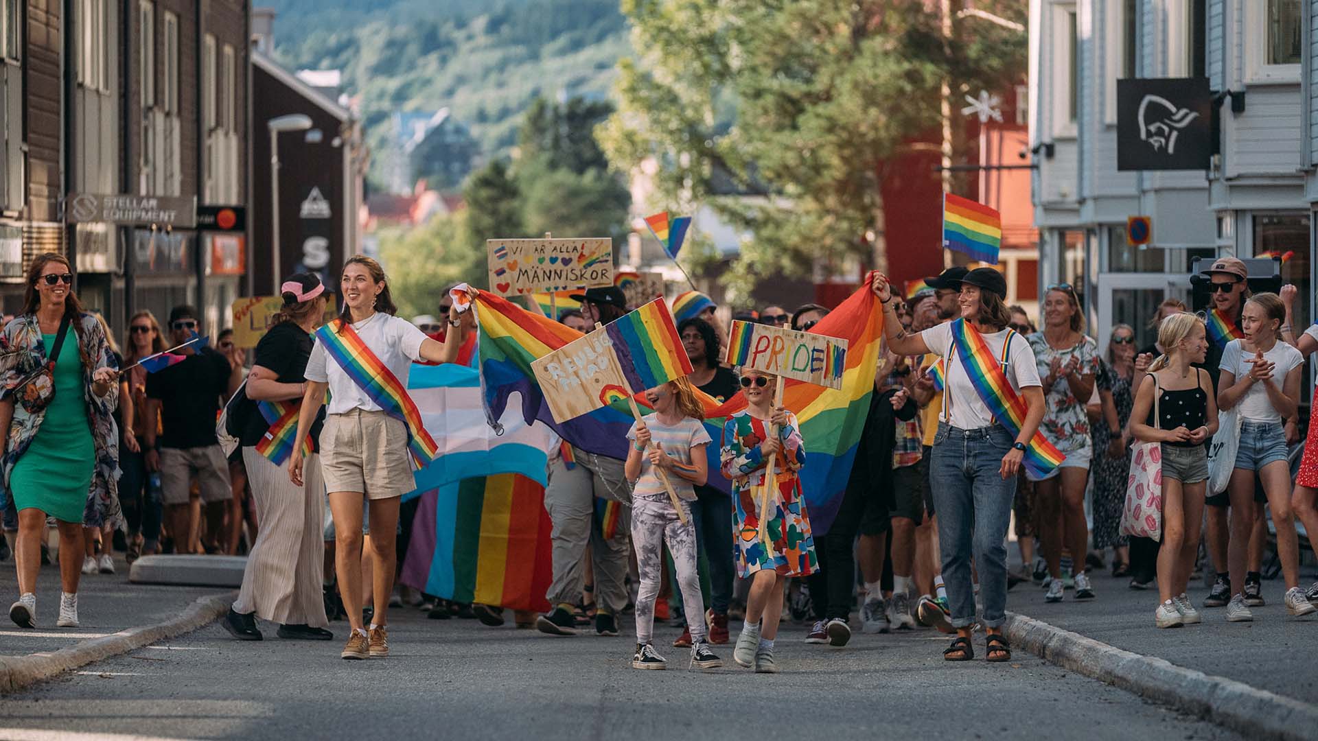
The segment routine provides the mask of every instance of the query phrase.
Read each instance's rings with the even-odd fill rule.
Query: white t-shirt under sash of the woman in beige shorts
[[[420,360],[420,344],[426,341],[426,334],[406,319],[381,312],[355,323],[352,328],[357,331],[357,336],[370,348],[370,352],[376,353],[376,357],[406,388],[407,372],[411,370],[414,360]],[[326,411],[330,414],[344,414],[353,409],[381,411],[380,405],[370,401],[370,397],[348,377],[339,363],[326,353],[320,338],[316,338],[316,345],[311,348],[306,378],[320,384],[328,381],[330,405]]]

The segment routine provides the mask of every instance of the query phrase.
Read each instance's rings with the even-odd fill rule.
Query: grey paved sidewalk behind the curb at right
[[[1190,601],[1199,608],[1203,622],[1185,628],[1153,628],[1157,589],[1139,592],[1130,579],[1112,579],[1111,571],[1093,571],[1097,599],[1075,601],[1066,592],[1060,604],[1044,603],[1044,591],[1020,584],[1008,593],[1007,608],[1074,630],[1118,649],[1161,657],[1177,666],[1217,674],[1252,687],[1318,704],[1318,670],[1313,647],[1318,643],[1318,613],[1294,618],[1281,603],[1285,583],[1264,580],[1267,605],[1249,608],[1253,622],[1227,622],[1226,608],[1203,608],[1209,591],[1202,581],[1190,581]],[[1301,568],[1301,585],[1315,579]]]

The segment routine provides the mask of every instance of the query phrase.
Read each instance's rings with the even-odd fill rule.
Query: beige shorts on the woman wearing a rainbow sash
[[[416,488],[407,427],[384,411],[353,409],[326,417],[320,471],[327,492],[361,492],[368,500],[401,497]]]

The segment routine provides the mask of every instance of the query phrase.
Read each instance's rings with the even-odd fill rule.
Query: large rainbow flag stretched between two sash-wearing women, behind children
[[[873,278],[866,280],[865,286],[811,330],[847,340],[842,388],[826,389],[788,381],[784,390],[784,405],[796,413],[805,439],[808,460],[801,468],[801,484],[811,526],[820,534],[828,531],[842,501],[861,431],[870,411],[870,394],[874,392],[883,316],[870,291],[870,280]],[[517,393],[527,422],[540,421],[548,425],[563,439],[587,452],[625,459],[626,432],[633,422],[626,400],[558,423],[531,372],[532,360],[568,344],[581,334],[489,291],[477,291],[474,306],[480,324],[477,355],[481,389],[488,418],[500,419]],[[643,397],[637,401],[645,406]],[[705,427],[716,442],[722,436],[724,421],[746,407],[741,393],[722,405],[701,394],[701,402],[705,405]],[[709,446],[706,450],[710,471],[718,471],[718,446]],[[709,483],[724,490],[730,488],[722,476],[712,476]]]

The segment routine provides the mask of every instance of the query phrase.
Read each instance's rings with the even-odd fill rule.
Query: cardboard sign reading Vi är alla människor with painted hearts
[[[613,240],[492,239],[490,291],[525,295],[613,285]]]

